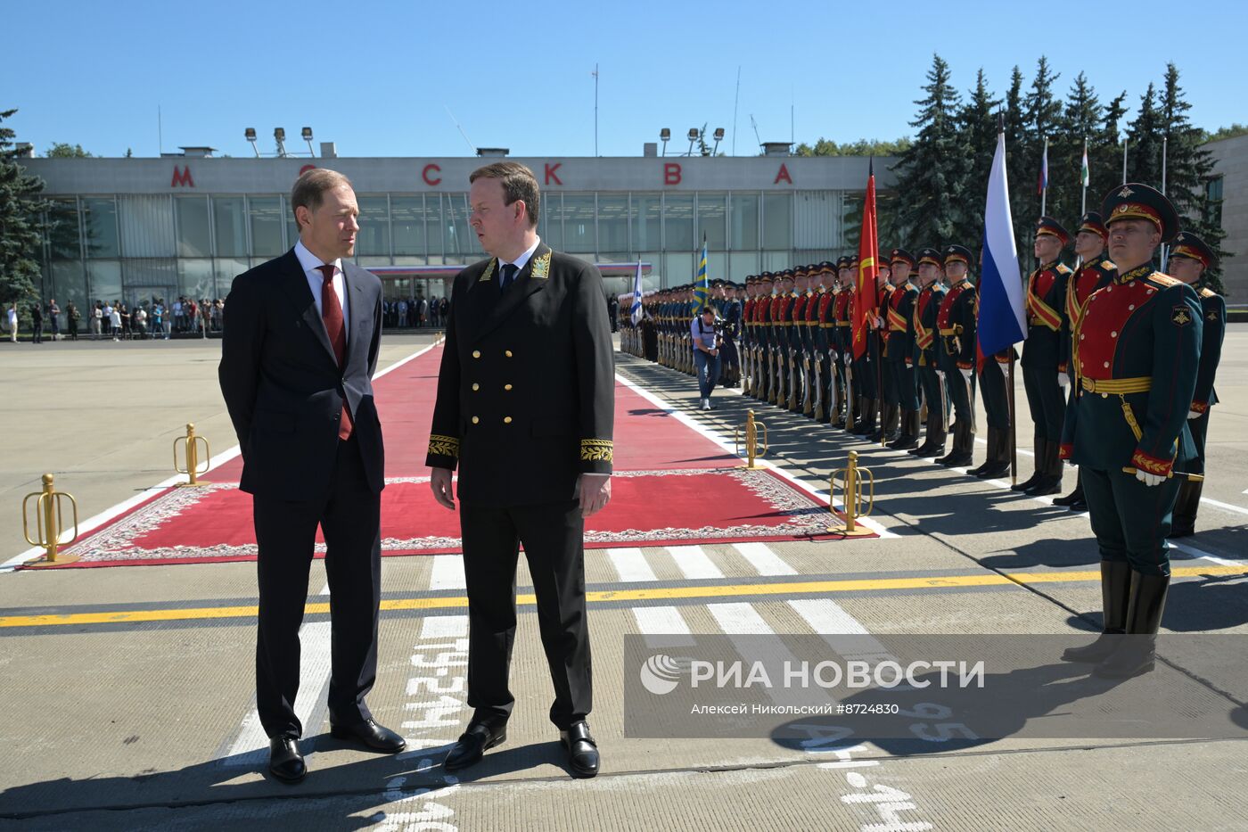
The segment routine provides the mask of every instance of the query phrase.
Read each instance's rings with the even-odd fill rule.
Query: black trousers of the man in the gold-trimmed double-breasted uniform
[[[473,721],[505,722],[515,641],[515,563],[519,546],[533,576],[538,628],[550,666],[550,721],[562,731],[593,706],[589,623],[585,618],[585,521],[577,500],[533,506],[459,502],[468,585],[468,705]]]

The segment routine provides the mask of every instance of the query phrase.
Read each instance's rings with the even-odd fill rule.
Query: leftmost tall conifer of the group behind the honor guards
[[[940,246],[952,241],[962,225],[966,189],[966,145],[958,130],[961,97],[950,84],[948,64],[932,54],[926,97],[915,101],[917,127],[914,144],[896,165],[901,196],[899,224],[911,246]]]

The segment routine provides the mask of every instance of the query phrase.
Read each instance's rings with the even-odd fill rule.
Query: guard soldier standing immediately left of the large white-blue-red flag
[[[948,291],[936,314],[940,367],[953,402],[953,450],[937,462],[947,467],[970,465],[975,455],[975,324],[980,304],[975,286],[967,280],[971,250],[945,246],[945,276]]]

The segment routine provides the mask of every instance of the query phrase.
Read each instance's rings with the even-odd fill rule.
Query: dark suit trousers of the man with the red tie
[[[270,737],[300,737],[300,625],[317,526],[324,533],[329,581],[329,720],[372,718],[364,697],[377,680],[377,618],[382,586],[381,495],[368,487],[359,442],[338,442],[333,488],[324,500],[256,495],[252,512],[260,555],[256,710]]]

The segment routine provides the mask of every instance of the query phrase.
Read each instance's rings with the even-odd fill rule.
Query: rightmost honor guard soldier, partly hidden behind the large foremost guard
[[[1192,406],[1187,412],[1187,426],[1192,432],[1197,458],[1188,470],[1204,475],[1204,437],[1209,431],[1209,407],[1218,404],[1213,392],[1213,377],[1218,372],[1222,359],[1222,337],[1227,331],[1227,302],[1204,282],[1207,269],[1217,269],[1218,255],[1204,240],[1181,232],[1174,237],[1171,250],[1169,271],[1196,290],[1201,299],[1201,316],[1204,319],[1204,336],[1201,341],[1201,369],[1196,374],[1196,392],[1192,394]],[[1203,480],[1184,480],[1178,490],[1178,502],[1174,505],[1174,522],[1171,537],[1187,537],[1196,533],[1196,510],[1201,505],[1201,486]]]

